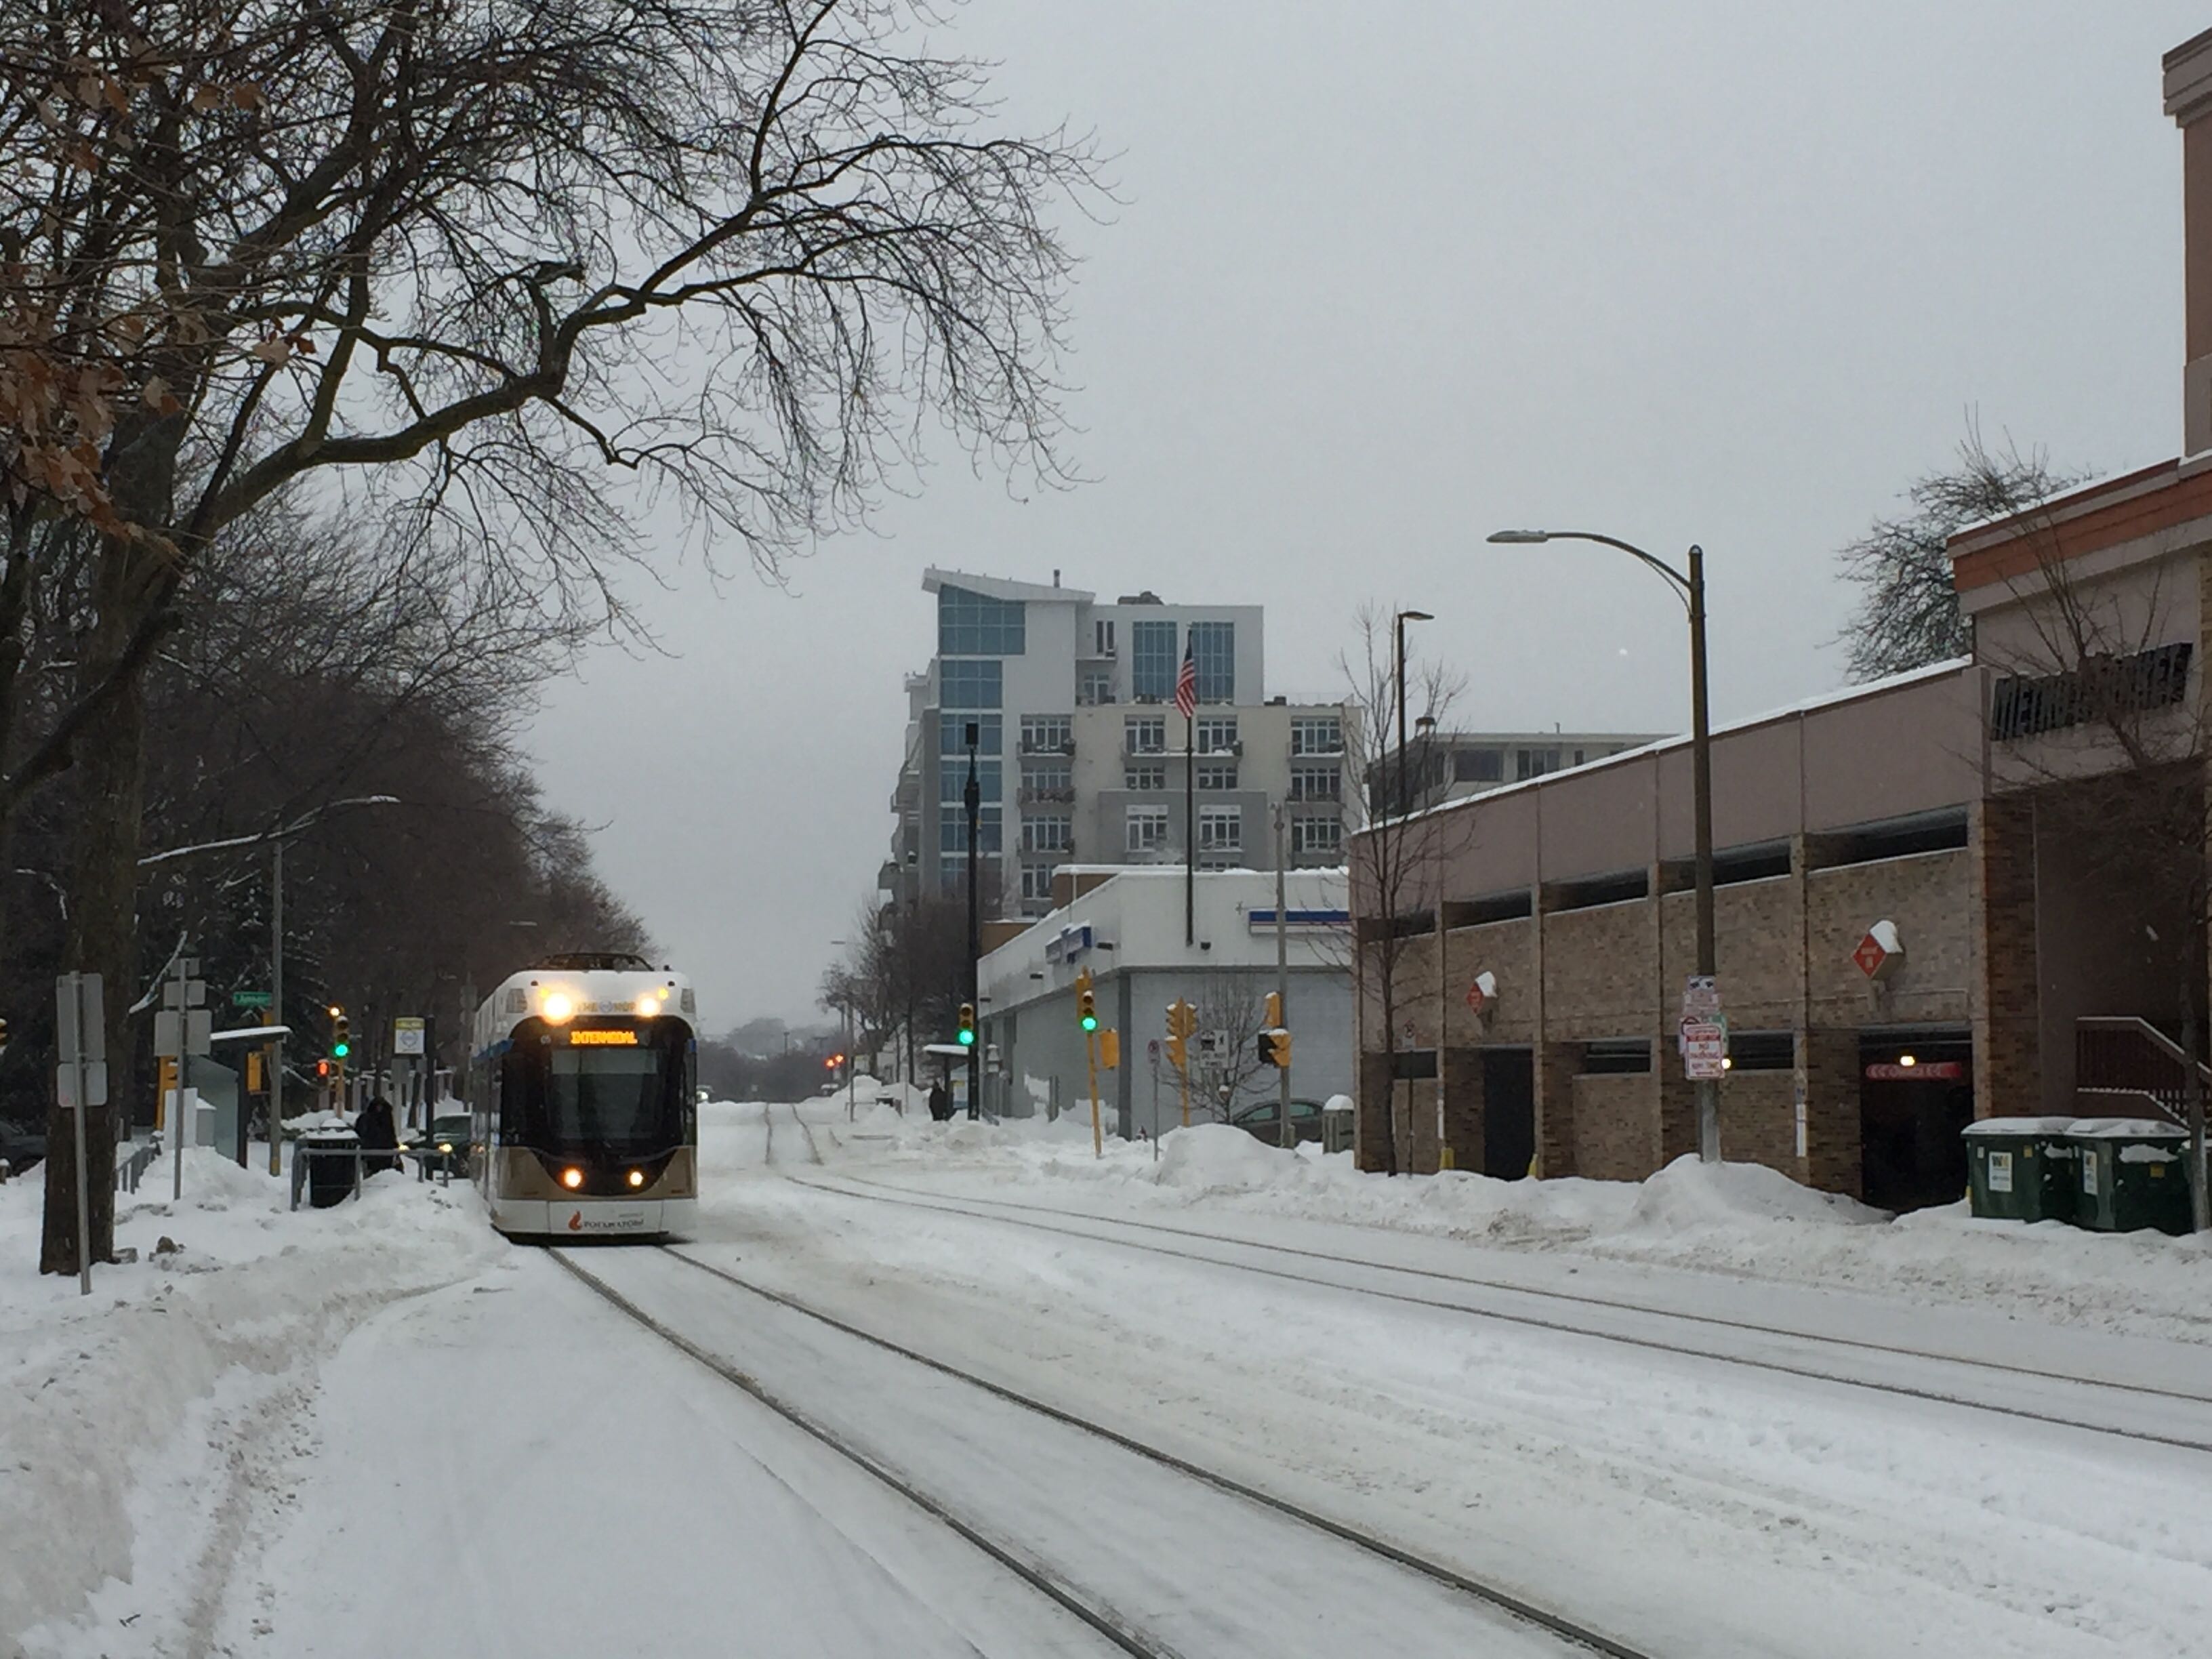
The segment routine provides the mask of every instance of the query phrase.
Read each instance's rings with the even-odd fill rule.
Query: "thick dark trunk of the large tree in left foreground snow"
[[[80,684],[91,686],[115,664],[150,595],[128,544],[100,555],[100,622],[86,639]],[[115,1124],[128,1121],[137,1082],[131,1004],[137,1000],[137,858],[144,779],[146,695],[137,672],[108,697],[75,743],[77,830],[69,891],[64,967],[97,973],[104,989],[108,1104],[86,1108],[84,1157],[93,1261],[115,1254]],[[170,1155],[184,1146],[170,1126]],[[38,1267],[77,1272],[75,1128],[55,1106],[46,1115],[46,1225]]]

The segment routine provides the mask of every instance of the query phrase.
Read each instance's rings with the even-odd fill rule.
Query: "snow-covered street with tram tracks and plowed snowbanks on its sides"
[[[1219,1128],[1093,1159],[1088,1124],[843,1099],[710,1106],[701,1155],[677,1252],[509,1248],[398,1181],[285,1217],[230,1170],[126,1210],[186,1250],[104,1312],[11,1281],[0,1637],[1575,1650],[1444,1573],[1652,1659],[2212,1655],[2190,1241],[1739,1168],[1380,1181]]]

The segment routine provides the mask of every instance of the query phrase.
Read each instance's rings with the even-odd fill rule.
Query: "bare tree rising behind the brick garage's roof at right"
[[[1951,584],[1949,540],[1969,524],[2017,513],[2079,482],[2053,471],[2042,453],[1993,456],[1978,434],[1960,442],[1958,460],[1916,478],[1907,511],[1878,518],[1836,553],[1843,575],[1860,588],[1851,624],[1840,635],[1851,679],[1882,679],[1964,657],[1973,648]]]

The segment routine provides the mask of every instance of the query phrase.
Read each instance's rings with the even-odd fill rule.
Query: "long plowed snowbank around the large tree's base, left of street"
[[[115,1199],[139,1259],[95,1265],[91,1296],[38,1272],[40,1183],[0,1186],[0,1652],[131,1577],[148,1462],[195,1467],[161,1548],[206,1548],[259,1433],[354,1325],[507,1250],[467,1186],[380,1175],[358,1203],[290,1212],[263,1170],[192,1150],[173,1203],[157,1161]]]

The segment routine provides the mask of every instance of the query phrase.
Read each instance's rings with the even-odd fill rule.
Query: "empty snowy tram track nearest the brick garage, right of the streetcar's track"
[[[796,1108],[792,1115],[796,1119]],[[814,1148],[810,1144],[810,1152]],[[814,1164],[816,1166],[821,1164],[818,1152],[814,1155]],[[1491,1281],[1471,1274],[1451,1274],[1431,1267],[1409,1267],[1400,1263],[1367,1261],[1358,1256],[1336,1256],[1329,1252],[1303,1250],[1296,1245],[1254,1243],[1250,1239],[1234,1239],[1228,1234],[1206,1232],[1199,1228],[1177,1228],[1168,1223],[1135,1221],[1119,1217],[1071,1214],[1064,1210],[1048,1210],[1046,1206],[1029,1206],[1011,1199],[945,1199],[938,1194],[922,1194],[883,1181],[869,1181],[856,1175],[832,1177],[823,1170],[812,1177],[803,1177],[794,1175],[790,1168],[783,1168],[781,1172],[796,1186],[830,1197],[951,1214],[984,1225],[998,1223],[998,1225],[1024,1228],[1066,1239],[1082,1239],[1088,1243],[1117,1245],[1124,1250],[1137,1250],[1155,1256],[1172,1256],[1179,1261],[1223,1267],[1230,1272],[1259,1274],[1267,1279],[1287,1281],[1294,1285],[1314,1285],[1356,1296],[1380,1296],[1394,1303],[1405,1303],[1413,1307],[1433,1307],[1438,1312],[1451,1312],[1467,1318],[1502,1321],[1511,1325],[1559,1332],[1568,1336],[1586,1336],[1590,1340],[1621,1343],[1641,1349],[1681,1354],[1688,1358],[1701,1358],[1721,1365],[1741,1365],[1785,1376],[1803,1376],[1807,1380],[1832,1383],[1838,1387],[1874,1389],[1880,1394],[1902,1396],[1911,1400],[1953,1405],[1969,1411],[1993,1411],[2000,1416],[2031,1418],[2037,1422],[2079,1429],[2086,1433],[2104,1433],[2124,1440],[2177,1447],[2183,1451],[2212,1453],[2212,1398],[2203,1394],[2188,1394],[2181,1389],[2166,1389],[2126,1380],[2084,1378],[2068,1371],[2048,1371],[2048,1369],[2011,1365],[2004,1360],[1984,1360],[1962,1354],[1940,1354],[1933,1349],[1916,1349],[1907,1345],[1867,1343],[1849,1336],[1823,1336],[1816,1332],[1796,1332],[1796,1329],[1761,1325],[1754,1321],[1734,1321],[1712,1314],[1657,1310],[1637,1303],[1624,1303],[1566,1290],[1513,1285],[1504,1281]],[[1035,1217],[1051,1217],[1051,1219],[1035,1219]],[[1144,1239],[1130,1234],[1161,1234],[1161,1237],[1217,1245],[1219,1250],[1194,1250],[1177,1243],[1164,1243],[1159,1237]],[[1270,1261],[1254,1261],[1252,1256],[1270,1256]],[[1290,1256],[1303,1263],[1318,1263],[1321,1270],[1296,1272],[1292,1267],[1272,1261],[1279,1256]],[[1329,1276],[1325,1272],[1327,1267],[1336,1267],[1343,1272]],[[1374,1276],[1374,1279],[1369,1283],[1347,1283],[1347,1276]],[[1413,1281],[1429,1281],[1429,1283],[1460,1287],[1462,1292],[1482,1292],[1504,1298],[1528,1298],[1557,1305],[1568,1312],[1540,1314],[1528,1310],[1500,1307],[1495,1303],[1473,1305],[1469,1301],[1451,1301],[1444,1294],[1416,1294],[1405,1287],[1391,1287],[1389,1283],[1374,1283],[1389,1279],[1398,1281],[1413,1279]],[[1989,1391],[1982,1398],[1975,1398],[1975,1394],[1960,1391],[1955,1387],[1947,1389],[1927,1383],[1869,1376],[1865,1374],[1865,1369],[1854,1376],[1838,1371],[1834,1363],[1823,1367],[1809,1358],[1796,1358],[1783,1352],[1770,1352],[1770,1354],[1747,1354],[1741,1349],[1732,1352],[1725,1345],[1725,1340],[1683,1340],[1683,1338],[1657,1336],[1650,1332],[1606,1329],[1606,1316],[1650,1321],[1657,1325],[1674,1323],[1686,1327],[1701,1327],[1705,1332],[1725,1334],[1725,1338],[1747,1338],[1754,1343],[1767,1343],[1776,1349],[1803,1347],[1814,1354],[1827,1354],[1832,1360],[1836,1356],[1858,1356],[1863,1365],[1902,1363],[1907,1367],[1909,1365],[1951,1367],[1969,1376],[1986,1374]],[[2128,1427],[2126,1422],[2110,1420],[2110,1416],[2099,1420],[2086,1411],[2044,1409],[2024,1398],[2002,1398],[2008,1387],[2024,1389],[2028,1394],[2037,1389],[2075,1391],[2079,1396],[2110,1394],[2128,1400],[2130,1409],[2135,1411],[2163,1413],[2166,1418],[2172,1418],[2172,1422],[2168,1422],[2166,1429],[2148,1429],[2148,1427]],[[2168,1431],[2183,1427],[2188,1431]]]

